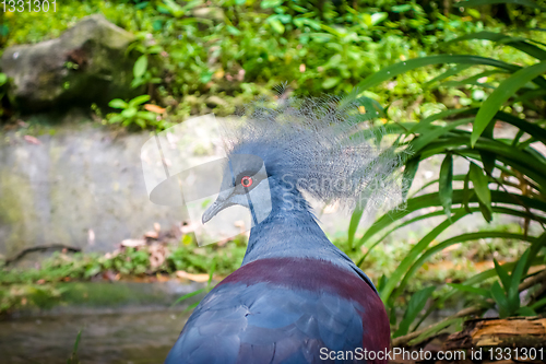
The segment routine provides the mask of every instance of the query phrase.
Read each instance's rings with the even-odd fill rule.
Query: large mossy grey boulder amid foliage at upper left
[[[134,59],[124,54],[133,40],[95,14],[56,39],[10,47],[0,59],[11,79],[8,96],[22,111],[131,97],[138,93],[130,86]]]

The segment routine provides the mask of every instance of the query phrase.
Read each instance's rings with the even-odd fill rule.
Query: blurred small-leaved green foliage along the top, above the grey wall
[[[489,10],[476,14],[465,8],[461,12],[436,1],[321,3],[317,7],[316,2],[300,0],[259,3],[214,0],[206,4],[176,0],[71,2],[58,7],[56,16],[7,13],[3,44],[52,38],[79,19],[100,12],[136,36],[129,49],[138,58],[133,86],[147,85],[146,92],[155,104],[171,106],[173,117],[185,118],[210,111],[232,114],[257,95],[271,94],[274,85],[287,80],[293,81],[290,89],[296,93],[343,94],[351,92],[364,77],[397,60],[464,49],[490,55],[494,47],[487,43],[455,45],[441,40],[480,32],[486,25],[491,30],[503,26],[487,15]],[[537,20],[530,16],[527,26],[535,26]],[[498,56],[511,62],[525,60],[515,50]],[[394,102],[392,110],[418,118],[422,113],[440,107],[438,94],[453,96],[450,94],[453,90],[423,87],[422,80],[442,70],[416,69],[369,96],[383,104]],[[462,104],[474,102],[468,95],[459,96]]]

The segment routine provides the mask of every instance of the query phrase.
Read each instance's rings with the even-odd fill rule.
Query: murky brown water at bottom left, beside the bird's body
[[[163,363],[189,314],[168,309],[56,315],[0,321],[3,364],[66,364],[82,329],[82,364]]]

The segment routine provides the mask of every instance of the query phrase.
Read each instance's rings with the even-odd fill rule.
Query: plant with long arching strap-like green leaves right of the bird
[[[435,254],[454,244],[496,236],[518,238],[531,245],[515,263],[500,266],[496,262],[495,269],[479,273],[466,280],[464,284],[452,284],[452,290],[438,297],[425,316],[461,291],[492,298],[502,317],[534,313],[531,308],[533,303],[530,306],[521,306],[518,286],[526,277],[530,266],[543,263],[542,251],[546,245],[546,157],[539,152],[546,146],[545,49],[536,39],[484,32],[462,37],[459,42],[468,39],[495,42],[502,49],[514,48],[530,58],[522,66],[473,55],[422,57],[387,67],[359,84],[363,89],[369,89],[392,77],[400,77],[422,67],[456,64],[456,68],[450,67],[443,74],[432,79],[429,85],[439,82],[440,87],[447,84],[448,87],[468,90],[478,95],[472,102],[475,107],[436,113],[419,122],[390,125],[389,130],[392,133],[401,134],[401,145],[406,145],[413,152],[406,160],[403,177],[406,184],[412,184],[422,161],[437,155],[446,156],[438,179],[417,188],[405,201],[405,209],[401,206],[380,216],[355,244],[355,248],[363,247],[366,251],[358,263],[363,263],[370,251],[397,228],[439,216],[442,212],[447,215],[412,247],[389,280],[381,284],[381,298],[391,312],[412,277]],[[460,67],[461,64],[463,67]],[[455,77],[459,77],[459,80],[449,80]],[[525,102],[522,102],[523,99]],[[494,133],[497,121],[514,129],[515,137],[497,137]],[[471,131],[468,124],[472,125]],[[455,161],[452,158],[466,164],[467,172],[453,175]],[[455,187],[455,183],[459,187]],[[438,190],[425,195],[425,188],[434,184],[438,184]],[[440,211],[428,212],[430,208]],[[496,215],[520,219],[525,231],[523,234],[508,234],[492,228],[476,233],[458,233],[458,221],[475,213],[480,213],[486,222],[491,222]],[[356,211],[353,216],[349,239],[360,214],[360,211]],[[530,224],[536,226],[538,232],[530,230]],[[440,234],[447,231],[451,231],[454,236],[442,240]],[[381,234],[377,237],[379,233]],[[513,267],[511,274],[506,270],[509,267]],[[476,286],[477,283],[482,284],[484,279],[494,277],[499,278],[502,285],[494,282],[487,290]],[[396,334],[408,332],[410,318],[415,316],[407,314],[405,320],[399,325]],[[424,317],[420,321],[423,319]],[[413,329],[417,327],[418,324]]]

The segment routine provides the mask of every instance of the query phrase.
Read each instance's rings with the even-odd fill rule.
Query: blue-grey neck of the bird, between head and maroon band
[[[337,248],[328,239],[309,204],[294,188],[270,183],[272,211],[250,231],[242,265],[264,258],[328,259]]]

